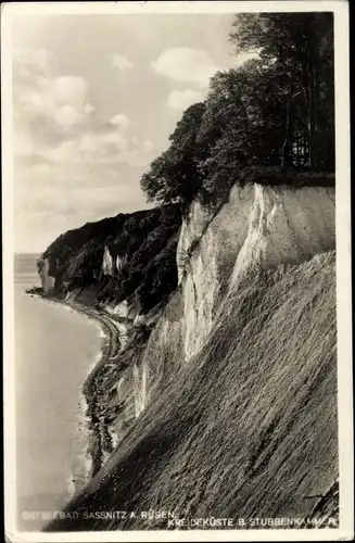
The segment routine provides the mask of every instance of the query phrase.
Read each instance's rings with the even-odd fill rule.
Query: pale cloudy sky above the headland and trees
[[[232,14],[22,15],[13,22],[15,251],[149,207],[139,181],[232,53]]]

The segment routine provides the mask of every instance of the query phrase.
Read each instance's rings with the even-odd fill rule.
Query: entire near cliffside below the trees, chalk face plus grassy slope
[[[112,451],[66,512],[334,515],[334,188],[236,185],[219,210],[193,202],[177,224],[176,285],[164,300],[142,308],[144,296],[99,295],[124,337],[94,376]],[[50,269],[53,254],[43,255]],[[117,254],[122,272],[129,255]],[[87,303],[92,286],[65,295]],[[48,530],[127,528],[166,520],[79,515]]]

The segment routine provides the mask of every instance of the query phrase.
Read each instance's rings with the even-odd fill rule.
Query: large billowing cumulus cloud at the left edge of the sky
[[[22,159],[36,154],[62,167],[129,163],[140,154],[143,161],[148,151],[127,134],[128,117],[118,113],[110,121],[101,118],[89,100],[88,83],[59,75],[53,66],[45,51],[14,59],[16,154]]]

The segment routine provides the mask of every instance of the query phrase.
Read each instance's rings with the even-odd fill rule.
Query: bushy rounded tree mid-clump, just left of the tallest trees
[[[228,193],[249,165],[280,164],[286,91],[275,65],[261,59],[212,79],[198,135],[208,150],[200,163],[207,191]]]

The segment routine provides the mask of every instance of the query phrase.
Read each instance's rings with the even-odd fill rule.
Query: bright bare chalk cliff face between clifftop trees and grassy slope
[[[181,226],[178,290],[157,319],[139,363],[122,376],[119,400],[128,402],[128,420],[199,354],[220,325],[221,314],[230,311],[228,298],[250,274],[302,264],[334,250],[334,218],[332,188],[236,186],[215,217],[194,202]]]

